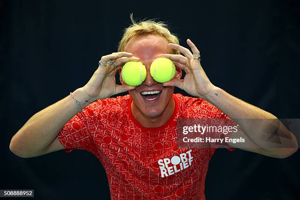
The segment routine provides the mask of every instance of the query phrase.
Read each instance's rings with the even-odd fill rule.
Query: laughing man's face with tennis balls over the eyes
[[[162,83],[156,82],[150,75],[150,65],[157,58],[155,55],[171,52],[168,42],[157,35],[136,36],[128,42],[125,51],[132,53],[135,57],[139,57],[147,70],[145,81],[135,87],[135,89],[128,91],[134,105],[143,115],[149,118],[161,115],[173,97],[174,86],[164,87]],[[178,77],[181,77],[180,69],[176,69],[175,78]],[[120,81],[124,84],[121,73]],[[147,94],[147,92],[154,91],[158,94]]]

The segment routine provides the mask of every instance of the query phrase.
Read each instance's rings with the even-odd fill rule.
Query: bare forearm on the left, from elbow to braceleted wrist
[[[93,101],[81,88],[76,89],[73,95],[80,101],[81,109],[88,104],[85,100]],[[13,136],[10,149],[22,157],[40,154],[53,142],[63,125],[78,112],[78,105],[68,95],[34,114]]]

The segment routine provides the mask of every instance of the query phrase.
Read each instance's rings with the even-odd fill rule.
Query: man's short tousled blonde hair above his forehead
[[[124,51],[128,42],[138,35],[159,35],[164,38],[168,43],[174,43],[179,45],[177,36],[172,34],[168,30],[168,26],[163,22],[155,22],[153,20],[140,21],[136,23],[133,19],[132,13],[130,14],[130,20],[132,25],[125,28],[122,40],[119,42],[118,52]],[[178,50],[172,49],[173,54],[180,54]]]

